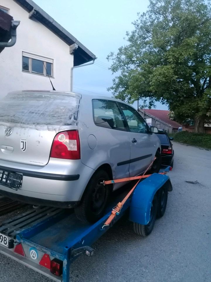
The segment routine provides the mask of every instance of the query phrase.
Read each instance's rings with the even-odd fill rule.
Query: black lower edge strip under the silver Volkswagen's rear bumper
[[[38,199],[28,196],[23,196],[20,194],[11,193],[8,191],[0,190],[0,194],[8,197],[14,201],[19,201],[26,204],[38,205],[38,206],[48,206],[48,207],[58,207],[62,209],[70,209],[76,207],[80,201],[69,201],[69,202],[58,202],[46,199]]]

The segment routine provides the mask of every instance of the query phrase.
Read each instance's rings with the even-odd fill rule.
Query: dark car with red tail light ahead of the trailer
[[[159,130],[156,135],[160,139],[161,142],[161,157],[162,157],[162,164],[170,165],[173,167],[173,157],[174,157],[174,150],[171,140],[173,137],[169,137],[165,131]]]

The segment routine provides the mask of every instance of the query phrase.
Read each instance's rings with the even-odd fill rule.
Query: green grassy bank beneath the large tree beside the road
[[[182,131],[178,133],[169,133],[169,136],[173,137],[176,142],[211,149],[211,134]]]

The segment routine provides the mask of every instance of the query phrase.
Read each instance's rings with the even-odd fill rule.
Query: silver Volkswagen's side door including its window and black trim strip
[[[142,116],[127,104],[119,103],[127,120],[130,136],[130,176],[136,176],[149,166],[155,155],[154,136]]]

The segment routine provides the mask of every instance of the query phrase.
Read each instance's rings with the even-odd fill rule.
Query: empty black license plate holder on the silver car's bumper
[[[0,184],[18,190],[23,181],[23,175],[16,172],[0,170]]]

